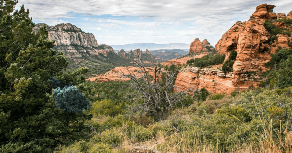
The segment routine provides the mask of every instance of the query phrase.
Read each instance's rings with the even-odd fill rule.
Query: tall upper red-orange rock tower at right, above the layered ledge
[[[256,11],[246,22],[238,21],[233,25],[215,45],[215,50],[219,54],[227,54],[228,51],[237,51],[237,58],[233,65],[236,73],[248,71],[256,71],[264,67],[271,59],[271,54],[275,53],[268,44],[269,33],[264,27],[265,20],[277,19],[277,15],[273,13],[274,5],[262,4],[256,7]],[[283,16],[283,14],[278,14]],[[283,23],[274,23],[276,26],[282,27]],[[279,43],[278,43],[279,42]],[[288,47],[288,38],[278,36],[275,45]],[[227,54],[228,55],[228,54]]]

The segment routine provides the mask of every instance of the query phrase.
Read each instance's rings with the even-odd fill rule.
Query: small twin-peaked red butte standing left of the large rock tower
[[[199,40],[199,38],[196,38],[190,45],[190,53],[199,53],[201,51],[209,51],[210,49],[214,49],[213,46],[207,41],[207,39],[204,39],[203,42]]]

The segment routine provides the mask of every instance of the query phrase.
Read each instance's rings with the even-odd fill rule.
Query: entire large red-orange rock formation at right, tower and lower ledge
[[[267,4],[257,6],[248,21],[238,21],[215,45],[218,54],[226,55],[225,60],[229,58],[230,51],[237,52],[232,72],[223,73],[220,70],[222,64],[209,69],[187,67],[179,72],[175,85],[182,88],[205,87],[211,93],[231,93],[234,90],[246,90],[250,86],[257,87],[261,79],[259,74],[266,70],[264,64],[270,61],[271,54],[276,53],[278,47],[289,48],[292,40],[292,37],[283,34],[278,34],[273,43],[269,39],[271,36],[264,27],[266,20],[292,18],[292,11],[287,16],[284,13],[276,14],[273,13],[274,7]],[[273,25],[286,28],[284,22],[274,22]],[[291,27],[286,29],[291,32]],[[198,39],[194,42],[198,44]],[[248,72],[253,72],[254,75],[251,76]]]

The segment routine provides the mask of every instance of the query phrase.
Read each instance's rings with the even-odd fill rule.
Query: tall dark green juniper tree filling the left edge
[[[69,78],[68,62],[45,27],[32,32],[29,10],[14,10],[17,2],[0,0],[0,152],[52,152],[79,140],[91,116],[56,107],[49,76]]]

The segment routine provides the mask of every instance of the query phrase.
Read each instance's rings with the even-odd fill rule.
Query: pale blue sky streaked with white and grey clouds
[[[275,13],[292,11],[291,0],[18,0],[34,23],[71,23],[92,33],[98,44],[186,43],[212,46],[237,21],[247,21],[261,4]]]

